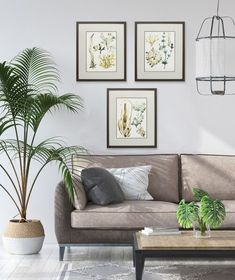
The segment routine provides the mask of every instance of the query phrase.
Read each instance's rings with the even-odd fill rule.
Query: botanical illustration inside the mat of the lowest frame
[[[146,98],[117,98],[117,138],[146,138]]]

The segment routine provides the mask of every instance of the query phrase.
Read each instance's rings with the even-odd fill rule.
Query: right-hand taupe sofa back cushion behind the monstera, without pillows
[[[181,155],[182,198],[193,199],[201,188],[212,198],[235,199],[235,156]]]

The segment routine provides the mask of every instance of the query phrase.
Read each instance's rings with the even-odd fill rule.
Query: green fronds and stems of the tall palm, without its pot
[[[11,128],[15,134],[15,139],[0,140],[0,153],[6,154],[15,173],[17,184],[11,177],[9,179],[20,196],[21,209],[16,201],[14,203],[24,220],[35,182],[51,161],[59,163],[69,197],[73,200],[72,154],[86,153],[82,147],[65,147],[57,138],[35,145],[38,128],[46,113],[61,108],[76,113],[83,108],[82,99],[77,95],[56,95],[58,81],[59,74],[51,55],[39,48],[25,49],[10,63],[0,63],[0,136]],[[18,166],[14,159],[18,160]],[[40,162],[41,167],[29,186],[33,160]],[[7,171],[5,167],[2,170]],[[5,190],[4,186],[2,188]]]

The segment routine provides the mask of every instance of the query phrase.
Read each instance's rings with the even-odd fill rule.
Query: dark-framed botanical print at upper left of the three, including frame
[[[126,23],[77,22],[77,81],[126,80]]]

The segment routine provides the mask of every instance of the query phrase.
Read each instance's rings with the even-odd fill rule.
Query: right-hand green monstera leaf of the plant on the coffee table
[[[201,199],[200,216],[210,228],[218,228],[226,216],[224,204],[218,199],[204,196]]]

